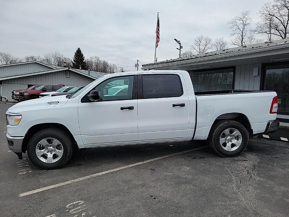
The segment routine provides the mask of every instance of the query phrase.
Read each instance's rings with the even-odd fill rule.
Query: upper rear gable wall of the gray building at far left
[[[7,65],[0,67],[0,76],[5,75],[16,75],[27,72],[37,72],[51,69],[50,67],[44,66],[39,63],[25,63],[16,65]]]

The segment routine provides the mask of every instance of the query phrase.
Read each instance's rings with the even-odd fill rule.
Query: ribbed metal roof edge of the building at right
[[[174,62],[181,62],[181,61],[186,61],[186,60],[196,60],[199,59],[200,61],[206,60],[209,57],[221,57],[222,55],[225,54],[230,54],[230,56],[237,55],[242,52],[250,53],[250,52],[255,52],[260,48],[267,48],[266,50],[270,50],[275,48],[276,46],[278,47],[284,47],[283,45],[285,44],[286,47],[289,47],[289,38],[286,39],[281,39],[281,40],[276,40],[276,41],[271,41],[271,42],[264,42],[264,43],[258,43],[258,44],[252,44],[252,45],[247,45],[243,47],[236,47],[236,48],[228,48],[224,50],[218,50],[218,51],[212,51],[212,52],[207,52],[207,53],[202,53],[202,54],[197,54],[197,55],[192,55],[189,57],[182,57],[182,58],[176,58],[176,59],[169,59],[157,63],[148,63],[148,64],[143,64],[142,67],[150,67],[150,66],[156,66],[156,65],[161,65],[161,64],[166,64],[166,63],[174,63]],[[264,49],[262,49],[264,50]]]

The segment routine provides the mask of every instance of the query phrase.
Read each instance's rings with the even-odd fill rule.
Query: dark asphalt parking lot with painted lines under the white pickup
[[[289,216],[289,143],[250,139],[236,158],[205,142],[86,149],[42,170],[8,151],[10,106],[0,104],[0,216]]]

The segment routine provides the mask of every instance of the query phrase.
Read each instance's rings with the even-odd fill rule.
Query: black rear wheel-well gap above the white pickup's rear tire
[[[221,120],[234,120],[234,121],[237,121],[239,122],[240,124],[242,124],[248,131],[249,133],[249,138],[252,138],[253,137],[253,130],[252,130],[252,126],[251,126],[251,123],[248,119],[248,117],[243,114],[243,113],[238,113],[238,112],[232,112],[232,113],[225,113],[225,114],[221,114],[219,115],[215,121],[213,122],[212,126],[211,126],[211,129],[210,129],[210,133],[209,135],[211,134],[211,131],[213,129],[213,126],[215,124],[217,124],[219,121]]]

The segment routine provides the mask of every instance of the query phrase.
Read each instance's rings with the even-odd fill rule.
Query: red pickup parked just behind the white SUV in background
[[[36,99],[39,98],[40,93],[56,91],[59,88],[62,88],[63,85],[41,85],[34,90],[22,90],[19,92],[20,101],[27,99]]]

